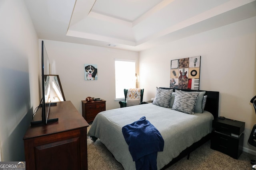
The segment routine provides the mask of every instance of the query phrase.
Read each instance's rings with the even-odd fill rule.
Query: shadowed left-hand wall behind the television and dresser
[[[1,0],[0,23],[0,161],[22,161],[40,102],[38,37],[23,0]]]

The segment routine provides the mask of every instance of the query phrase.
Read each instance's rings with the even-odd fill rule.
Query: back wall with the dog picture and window
[[[115,101],[114,61],[130,59],[138,63],[138,52],[49,40],[44,40],[44,44],[51,74],[60,76],[66,100],[70,100],[81,114],[81,100],[88,96],[106,100],[107,110],[120,107]],[[88,63],[97,64],[98,80],[84,80],[84,64]]]

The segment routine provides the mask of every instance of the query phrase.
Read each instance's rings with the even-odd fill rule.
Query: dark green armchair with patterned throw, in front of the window
[[[125,102],[120,101],[120,107],[139,105],[143,101],[143,93],[144,89],[140,88],[124,89]]]

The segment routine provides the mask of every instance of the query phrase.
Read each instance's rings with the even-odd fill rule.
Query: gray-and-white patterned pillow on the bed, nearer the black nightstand
[[[175,90],[175,99],[172,106],[173,110],[183,113],[194,114],[194,107],[198,98],[199,92],[184,92]]]

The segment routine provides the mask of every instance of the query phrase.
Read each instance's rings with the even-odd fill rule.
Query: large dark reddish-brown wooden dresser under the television
[[[34,121],[42,120],[40,108]],[[50,107],[57,122],[30,126],[24,135],[26,170],[87,170],[88,123],[70,101]]]

